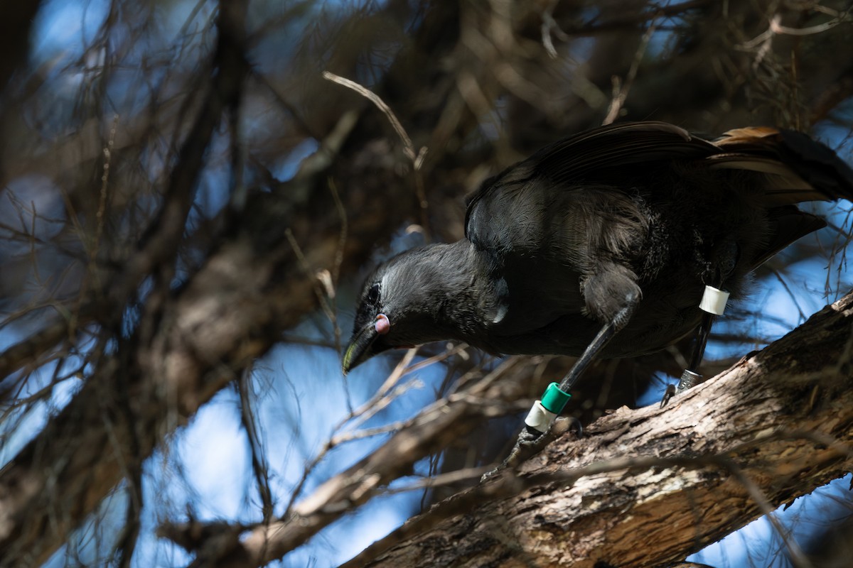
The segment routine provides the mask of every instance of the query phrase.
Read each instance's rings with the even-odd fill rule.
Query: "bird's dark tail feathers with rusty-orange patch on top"
[[[759,172],[771,207],[804,201],[853,201],[853,169],[809,136],[792,130],[747,127],[729,130],[714,144],[711,168]]]

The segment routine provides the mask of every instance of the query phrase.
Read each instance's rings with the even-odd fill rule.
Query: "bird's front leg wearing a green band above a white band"
[[[542,400],[537,400],[536,404],[533,404],[533,408],[525,419],[525,427],[519,433],[519,438],[516,440],[513,450],[509,452],[507,459],[497,468],[485,473],[481,481],[490,479],[504,468],[515,468],[521,462],[525,462],[527,458],[537,454],[548,443],[552,438],[548,435],[551,431],[551,425],[554,424],[556,417],[560,415],[571,398],[569,390],[595,359],[595,355],[600,353],[607,342],[629,322],[640,297],[638,288],[631,290],[629,294],[624,296],[623,307],[599,330],[598,334],[583,350],[580,358],[572,365],[572,369],[560,381],[560,384],[552,382],[548,385]]]

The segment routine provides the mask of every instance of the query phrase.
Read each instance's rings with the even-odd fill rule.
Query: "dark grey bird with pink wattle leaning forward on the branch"
[[[853,198],[853,170],[797,132],[589,130],[485,181],[465,238],[377,267],[343,370],[450,339],[586,363],[657,351],[697,329],[706,284],[741,297],[756,267],[826,225],[796,204],[838,198]]]

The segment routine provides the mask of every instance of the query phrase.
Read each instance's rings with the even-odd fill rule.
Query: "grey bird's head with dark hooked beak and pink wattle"
[[[409,250],[377,267],[362,287],[344,373],[378,353],[447,339],[440,315],[448,245]]]

